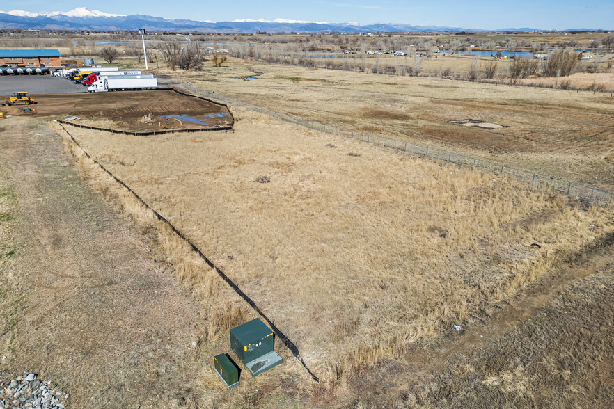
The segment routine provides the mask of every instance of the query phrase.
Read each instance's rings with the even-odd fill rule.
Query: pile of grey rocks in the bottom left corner
[[[0,376],[0,409],[64,409],[63,399],[70,394],[58,390],[49,380],[42,382],[36,374]]]

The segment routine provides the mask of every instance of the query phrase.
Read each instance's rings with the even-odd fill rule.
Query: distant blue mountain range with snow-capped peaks
[[[361,25],[357,23],[306,22],[301,20],[242,19],[233,22],[197,22],[189,19],[166,19],[150,15],[120,15],[103,13],[78,7],[68,12],[31,13],[29,11],[0,11],[0,29],[40,29],[40,30],[138,30],[182,31],[207,33],[377,33],[389,31],[487,31],[482,29],[462,29],[446,26],[413,26],[411,24],[376,23]],[[501,29],[496,31],[540,31],[539,29]]]

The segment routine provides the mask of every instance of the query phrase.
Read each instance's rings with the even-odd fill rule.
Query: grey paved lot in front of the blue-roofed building
[[[2,101],[16,91],[27,91],[31,95],[87,92],[85,86],[68,81],[63,77],[58,78],[51,75],[3,75],[0,77]]]

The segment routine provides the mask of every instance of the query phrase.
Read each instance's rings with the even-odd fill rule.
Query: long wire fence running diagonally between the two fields
[[[194,95],[198,95],[200,97],[214,99],[219,102],[223,102],[224,104],[242,106],[252,111],[257,111],[259,113],[269,115],[278,120],[292,122],[293,124],[308,127],[310,129],[315,129],[317,131],[322,131],[328,134],[335,134],[339,136],[345,136],[347,138],[353,138],[367,143],[373,143],[375,145],[380,145],[390,149],[407,152],[407,154],[413,154],[432,159],[439,159],[441,161],[455,163],[459,166],[476,168],[484,170],[487,173],[499,175],[501,177],[510,177],[511,179],[530,184],[535,190],[544,189],[552,191],[553,193],[562,193],[572,198],[576,198],[577,200],[584,200],[589,203],[599,202],[599,204],[604,204],[614,202],[614,193],[604,191],[602,189],[597,189],[592,186],[578,184],[576,182],[562,179],[560,177],[542,175],[540,173],[530,172],[529,170],[522,170],[518,168],[513,168],[511,166],[501,165],[501,163],[494,163],[490,161],[485,161],[484,159],[466,157],[462,154],[448,152],[446,150],[441,150],[437,147],[432,147],[428,145],[420,145],[417,143],[410,143],[406,141],[397,141],[396,139],[385,138],[384,136],[348,131],[347,129],[340,129],[339,127],[333,127],[331,125],[322,124],[313,120],[307,120],[305,118],[297,117],[295,115],[288,115],[287,113],[281,113],[273,111],[271,109],[262,108],[261,106],[249,104],[248,102],[243,102],[239,99],[227,97],[226,95],[221,95],[212,91],[197,90],[193,86],[184,83],[173,85],[180,86],[181,88],[189,90],[190,93],[193,93]]]

